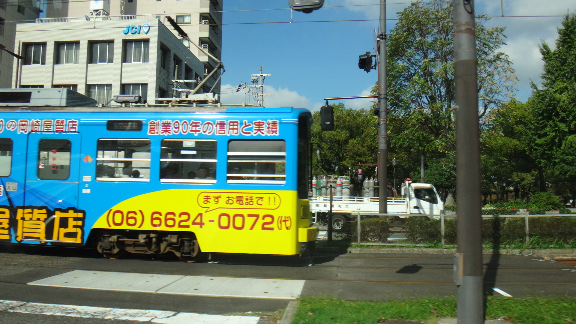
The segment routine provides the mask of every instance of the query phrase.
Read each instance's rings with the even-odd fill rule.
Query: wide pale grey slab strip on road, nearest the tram
[[[172,293],[177,295],[297,299],[305,280],[174,276],[170,274],[122,273],[74,270],[29,285]]]

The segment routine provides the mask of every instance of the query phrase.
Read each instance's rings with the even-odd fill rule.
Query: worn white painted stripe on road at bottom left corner
[[[210,315],[190,312],[128,310],[92,306],[42,304],[0,300],[0,310],[26,314],[56,315],[67,317],[116,319],[124,321],[151,322],[161,324],[256,324],[259,317],[239,315]]]

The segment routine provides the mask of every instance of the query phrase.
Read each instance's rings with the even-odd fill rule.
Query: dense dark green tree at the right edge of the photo
[[[555,185],[559,194],[574,195],[576,136],[576,17],[566,16],[558,28],[556,48],[543,42],[543,88],[532,84],[528,104],[536,116],[529,127],[531,151],[539,172],[539,190]],[[547,178],[547,181],[544,180]]]

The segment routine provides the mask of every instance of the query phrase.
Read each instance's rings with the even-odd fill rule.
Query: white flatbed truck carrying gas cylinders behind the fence
[[[426,216],[439,218],[444,203],[438,191],[430,183],[405,182],[401,187],[402,197],[388,197],[388,216],[406,218]],[[342,229],[345,222],[358,215],[378,216],[378,197],[334,197],[332,196],[332,229]],[[326,220],[330,211],[330,197],[316,195],[310,199],[310,212],[314,222]]]

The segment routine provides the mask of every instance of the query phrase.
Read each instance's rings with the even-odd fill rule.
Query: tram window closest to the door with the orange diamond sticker
[[[150,140],[102,138],[96,155],[98,181],[150,181]]]

